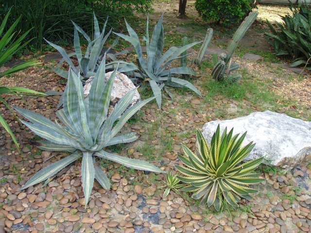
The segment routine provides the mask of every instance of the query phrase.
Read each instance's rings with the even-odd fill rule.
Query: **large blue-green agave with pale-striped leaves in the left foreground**
[[[119,100],[112,113],[107,116],[116,70],[117,68],[105,83],[105,60],[103,60],[96,72],[89,98],[86,100],[84,100],[80,78],[71,69],[69,70],[68,83],[63,94],[63,108],[56,112],[65,126],[56,120],[53,123],[40,114],[15,107],[20,115],[30,121],[21,120],[21,122],[34,133],[46,139],[40,141],[41,146],[38,148],[71,153],[64,159],[41,169],[21,189],[45,181],[79,158],[82,158],[82,187],[86,204],[93,188],[94,178],[103,188],[110,188],[106,174],[99,166],[96,166],[95,157],[111,160],[134,169],[163,172],[145,161],[126,158],[104,150],[105,147],[133,142],[138,138],[136,133],[121,135],[117,135],[117,133],[131,116],[155,98],[143,100],[127,109],[136,91],[133,89]]]

